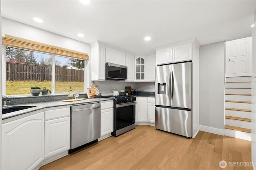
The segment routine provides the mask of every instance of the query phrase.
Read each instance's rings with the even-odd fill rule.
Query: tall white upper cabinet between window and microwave
[[[106,47],[100,45],[98,41],[90,44],[91,46],[91,80],[105,80],[106,78]]]

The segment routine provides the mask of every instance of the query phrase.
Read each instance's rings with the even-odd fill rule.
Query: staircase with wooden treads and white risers
[[[251,76],[226,77],[225,135],[251,141]]]

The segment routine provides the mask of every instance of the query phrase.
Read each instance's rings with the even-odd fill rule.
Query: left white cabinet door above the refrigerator
[[[156,51],[156,64],[172,63],[172,47]]]

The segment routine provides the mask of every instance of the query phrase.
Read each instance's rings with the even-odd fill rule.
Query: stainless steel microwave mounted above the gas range
[[[127,66],[106,63],[106,80],[126,80]]]

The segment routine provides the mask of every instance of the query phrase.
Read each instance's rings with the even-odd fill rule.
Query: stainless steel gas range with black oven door
[[[135,104],[133,96],[102,96],[114,100],[114,131],[111,135],[117,137],[135,128]]]

